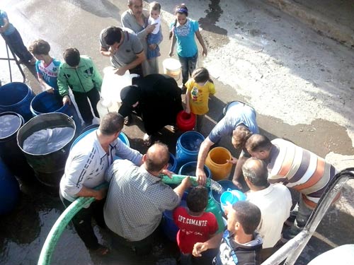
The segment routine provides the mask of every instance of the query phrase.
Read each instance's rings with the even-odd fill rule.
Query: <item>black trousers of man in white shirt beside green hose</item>
[[[59,195],[65,208],[72,204],[71,201],[68,201],[67,199],[63,198],[62,194]],[[74,228],[77,232],[77,235],[79,235],[81,240],[84,241],[85,246],[91,250],[98,249],[98,247],[100,246],[98,244],[98,239],[95,235],[95,232],[93,232],[91,219],[94,218],[99,226],[105,228],[105,220],[103,217],[104,205],[105,199],[101,201],[93,201],[89,208],[82,208],[72,218],[72,223],[74,224]]]

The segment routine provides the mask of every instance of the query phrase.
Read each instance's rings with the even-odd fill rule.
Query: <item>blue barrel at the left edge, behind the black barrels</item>
[[[34,97],[35,93],[25,83],[7,83],[0,87],[0,112],[16,112],[27,122],[33,117],[30,102]]]

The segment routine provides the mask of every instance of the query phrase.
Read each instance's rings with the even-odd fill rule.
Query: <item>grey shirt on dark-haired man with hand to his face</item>
[[[101,47],[109,49],[109,45],[103,40],[103,32],[100,34],[100,44]],[[110,62],[113,67],[121,67],[130,64],[137,58],[137,54],[143,52],[142,43],[138,39],[137,35],[129,28],[122,28],[122,33],[124,34],[123,43],[118,47],[118,51],[110,57]]]

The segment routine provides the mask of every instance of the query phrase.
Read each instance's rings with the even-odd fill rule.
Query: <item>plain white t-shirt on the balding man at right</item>
[[[261,191],[249,192],[247,199],[262,213],[258,232],[263,238],[263,248],[274,247],[280,240],[282,225],[290,215],[292,199],[289,190],[282,184],[274,184]]]

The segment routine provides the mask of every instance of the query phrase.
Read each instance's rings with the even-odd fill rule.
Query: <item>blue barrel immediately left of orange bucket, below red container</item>
[[[198,131],[187,131],[182,134],[176,144],[177,165],[181,166],[185,163],[196,161],[202,141],[204,141],[204,136]]]

